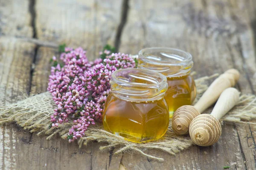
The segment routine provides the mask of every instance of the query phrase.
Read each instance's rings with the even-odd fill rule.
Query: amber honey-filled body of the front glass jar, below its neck
[[[132,142],[162,137],[169,126],[169,111],[164,99],[129,102],[109,94],[103,113],[105,130]]]

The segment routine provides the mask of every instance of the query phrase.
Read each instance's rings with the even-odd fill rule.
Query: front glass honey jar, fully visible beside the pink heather
[[[131,142],[161,138],[169,126],[164,99],[166,77],[154,71],[125,68],[112,73],[104,113],[105,130]]]

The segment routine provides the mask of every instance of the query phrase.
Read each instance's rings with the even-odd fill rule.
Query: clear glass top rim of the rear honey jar
[[[177,61],[173,62],[170,60],[156,60],[156,59],[149,59],[148,57],[145,57],[145,52],[146,51],[172,51],[173,53],[181,53],[183,54],[183,59],[181,58],[176,58]],[[168,55],[168,54],[167,54]],[[178,55],[180,56],[180,55]],[[144,48],[139,51],[139,57],[143,58],[144,60],[147,60],[148,62],[151,62],[152,64],[157,63],[158,65],[177,65],[177,64],[193,64],[192,61],[192,55],[189,52],[177,49],[177,48],[169,48],[169,47],[151,47],[151,48]],[[167,56],[166,56],[167,57]]]

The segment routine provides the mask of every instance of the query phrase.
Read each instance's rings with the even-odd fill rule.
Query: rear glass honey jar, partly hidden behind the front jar
[[[170,118],[183,105],[191,105],[196,97],[195,82],[189,75],[192,55],[175,48],[145,48],[139,52],[138,68],[157,71],[167,77],[166,102]]]

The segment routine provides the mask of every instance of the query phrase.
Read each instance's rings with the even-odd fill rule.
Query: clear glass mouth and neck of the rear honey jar
[[[186,51],[153,47],[139,51],[138,68],[154,70],[167,77],[189,74],[193,66],[192,55]]]

